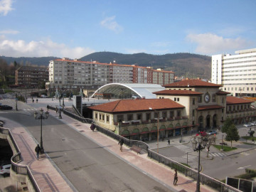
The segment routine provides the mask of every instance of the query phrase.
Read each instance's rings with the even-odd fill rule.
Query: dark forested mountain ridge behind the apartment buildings
[[[22,63],[22,65],[48,65],[50,60],[58,59],[57,57],[41,58],[12,58],[0,56],[11,63]],[[82,61],[96,60],[100,63],[115,63],[120,65],[139,65],[142,67],[152,67],[154,69],[162,68],[171,70],[178,77],[183,78],[204,78],[210,79],[211,58],[207,55],[198,55],[193,53],[167,53],[164,55],[152,55],[148,53],[114,53],[114,52],[95,52],[80,58]]]

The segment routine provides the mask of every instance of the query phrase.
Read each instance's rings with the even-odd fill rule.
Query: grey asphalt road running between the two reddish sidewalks
[[[39,103],[32,107],[19,103],[18,112],[1,112],[1,116],[27,127],[39,143],[40,121],[33,117],[35,105]],[[43,146],[78,191],[171,191],[51,115],[43,120]]]

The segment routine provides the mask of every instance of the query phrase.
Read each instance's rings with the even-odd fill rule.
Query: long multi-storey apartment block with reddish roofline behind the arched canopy
[[[113,82],[164,85],[174,82],[174,72],[138,65],[85,62],[63,58],[50,61],[49,82],[46,88],[97,90],[102,85]]]

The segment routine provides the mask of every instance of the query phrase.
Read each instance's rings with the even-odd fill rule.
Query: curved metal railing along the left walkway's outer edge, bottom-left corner
[[[31,181],[33,189],[36,192],[41,192],[38,184],[36,183],[36,179],[33,177],[33,174],[31,173],[29,167],[27,165],[19,164],[19,162],[22,161],[21,151],[18,149],[18,144],[16,144],[16,141],[14,139],[14,136],[11,134],[11,131],[9,129],[0,127],[0,133],[9,135],[9,138],[11,139],[11,142],[12,144],[14,144],[14,147],[17,151],[17,153],[11,157],[11,170],[14,171],[14,173],[16,174],[28,176],[28,181]]]

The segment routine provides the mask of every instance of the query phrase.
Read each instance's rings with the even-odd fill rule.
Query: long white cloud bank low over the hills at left
[[[95,50],[91,48],[75,47],[69,48],[63,43],[55,43],[50,39],[46,41],[31,41],[26,43],[23,40],[11,41],[0,38],[0,53],[9,57],[67,57],[81,58]]]

